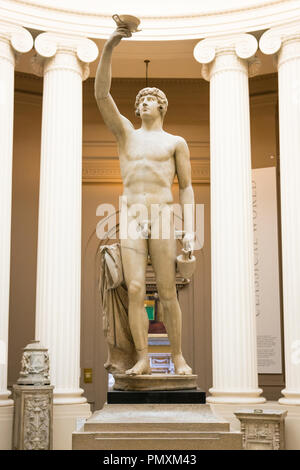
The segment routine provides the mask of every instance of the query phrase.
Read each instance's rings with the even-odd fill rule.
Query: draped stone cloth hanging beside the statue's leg
[[[137,358],[129,326],[128,292],[119,243],[100,248],[99,291],[103,331],[108,345],[104,367],[112,374],[124,373],[133,367]]]

